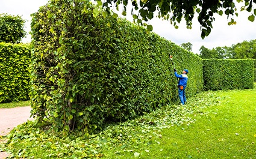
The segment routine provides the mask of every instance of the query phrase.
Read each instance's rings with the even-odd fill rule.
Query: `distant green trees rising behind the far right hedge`
[[[204,46],[200,48],[200,57],[202,59],[256,59],[256,40],[243,41],[232,46],[214,47],[207,49]]]

